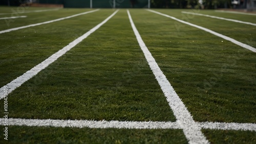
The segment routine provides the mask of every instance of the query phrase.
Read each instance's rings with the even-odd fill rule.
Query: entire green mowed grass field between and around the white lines
[[[0,31],[91,11],[0,7]],[[0,34],[1,87],[87,33],[115,10],[99,11]],[[256,47],[256,16],[214,10],[155,9]],[[256,123],[256,53],[198,28],[130,9],[148,50],[198,122]],[[4,115],[4,99],[0,100]],[[177,119],[136,40],[126,9],[8,95],[8,118],[153,121]],[[3,122],[3,121],[2,121]],[[187,143],[182,129],[0,126],[0,143]],[[211,143],[256,143],[256,131],[202,129]]]

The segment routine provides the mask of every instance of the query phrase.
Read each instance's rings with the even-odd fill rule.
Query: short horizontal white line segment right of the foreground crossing
[[[219,123],[219,122],[202,122],[199,125],[203,129],[216,129],[216,130],[243,130],[255,131],[256,124],[251,123]]]

